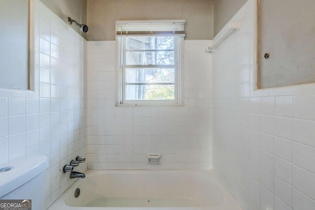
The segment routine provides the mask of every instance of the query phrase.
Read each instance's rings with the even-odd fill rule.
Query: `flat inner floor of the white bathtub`
[[[86,207],[200,207],[195,201],[177,198],[97,198]]]

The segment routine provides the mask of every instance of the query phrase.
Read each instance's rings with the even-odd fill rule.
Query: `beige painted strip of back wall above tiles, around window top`
[[[89,0],[87,39],[115,40],[117,20],[186,20],[185,39],[213,38],[212,0]]]

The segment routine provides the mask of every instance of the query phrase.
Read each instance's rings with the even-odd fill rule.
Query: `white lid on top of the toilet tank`
[[[43,172],[48,161],[45,155],[37,154],[0,164],[0,168],[7,166],[14,168],[0,173],[0,198]]]

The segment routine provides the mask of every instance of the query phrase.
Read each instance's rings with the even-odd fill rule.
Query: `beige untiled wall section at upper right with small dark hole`
[[[315,82],[315,0],[258,0],[258,88]]]

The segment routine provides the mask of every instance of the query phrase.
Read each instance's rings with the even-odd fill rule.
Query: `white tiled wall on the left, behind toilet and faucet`
[[[34,0],[31,44],[34,89],[0,89],[0,163],[44,154],[46,207],[73,183],[63,166],[87,145],[87,42],[41,2]],[[87,164],[77,170],[85,171]]]

